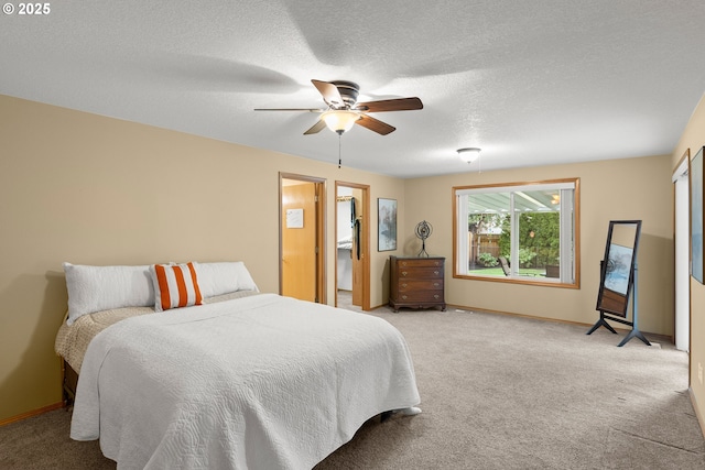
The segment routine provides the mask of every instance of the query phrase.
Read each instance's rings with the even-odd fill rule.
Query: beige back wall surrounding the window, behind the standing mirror
[[[408,254],[417,252],[413,236],[421,220],[433,225],[426,250],[447,259],[446,302],[475,309],[594,324],[599,262],[610,220],[641,219],[639,244],[639,326],[673,335],[673,196],[668,155],[511,171],[466,173],[406,182]],[[558,288],[453,278],[454,186],[581,178],[581,288]],[[587,330],[587,328],[586,328]],[[616,342],[619,342],[615,338]]]

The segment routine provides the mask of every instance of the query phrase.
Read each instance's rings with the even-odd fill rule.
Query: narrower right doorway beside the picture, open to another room
[[[369,186],[336,182],[336,303],[370,309]]]

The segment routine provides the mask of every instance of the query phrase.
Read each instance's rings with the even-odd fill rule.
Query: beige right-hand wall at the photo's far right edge
[[[671,167],[675,171],[683,154],[690,150],[691,157],[705,145],[705,96],[695,108],[683,135],[671,155]],[[705,286],[691,277],[691,361],[690,383],[701,426],[705,425],[705,386],[697,378],[697,367],[705,368]],[[705,427],[705,426],[704,426]]]

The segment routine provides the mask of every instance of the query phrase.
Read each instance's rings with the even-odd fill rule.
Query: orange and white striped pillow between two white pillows
[[[150,271],[154,282],[154,297],[156,298],[154,309],[156,311],[191,307],[203,303],[193,263],[154,264],[150,266]]]

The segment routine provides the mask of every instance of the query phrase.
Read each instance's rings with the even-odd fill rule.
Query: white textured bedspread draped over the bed
[[[130,318],[84,360],[70,437],[124,469],[310,469],[419,403],[383,319],[274,294]]]

